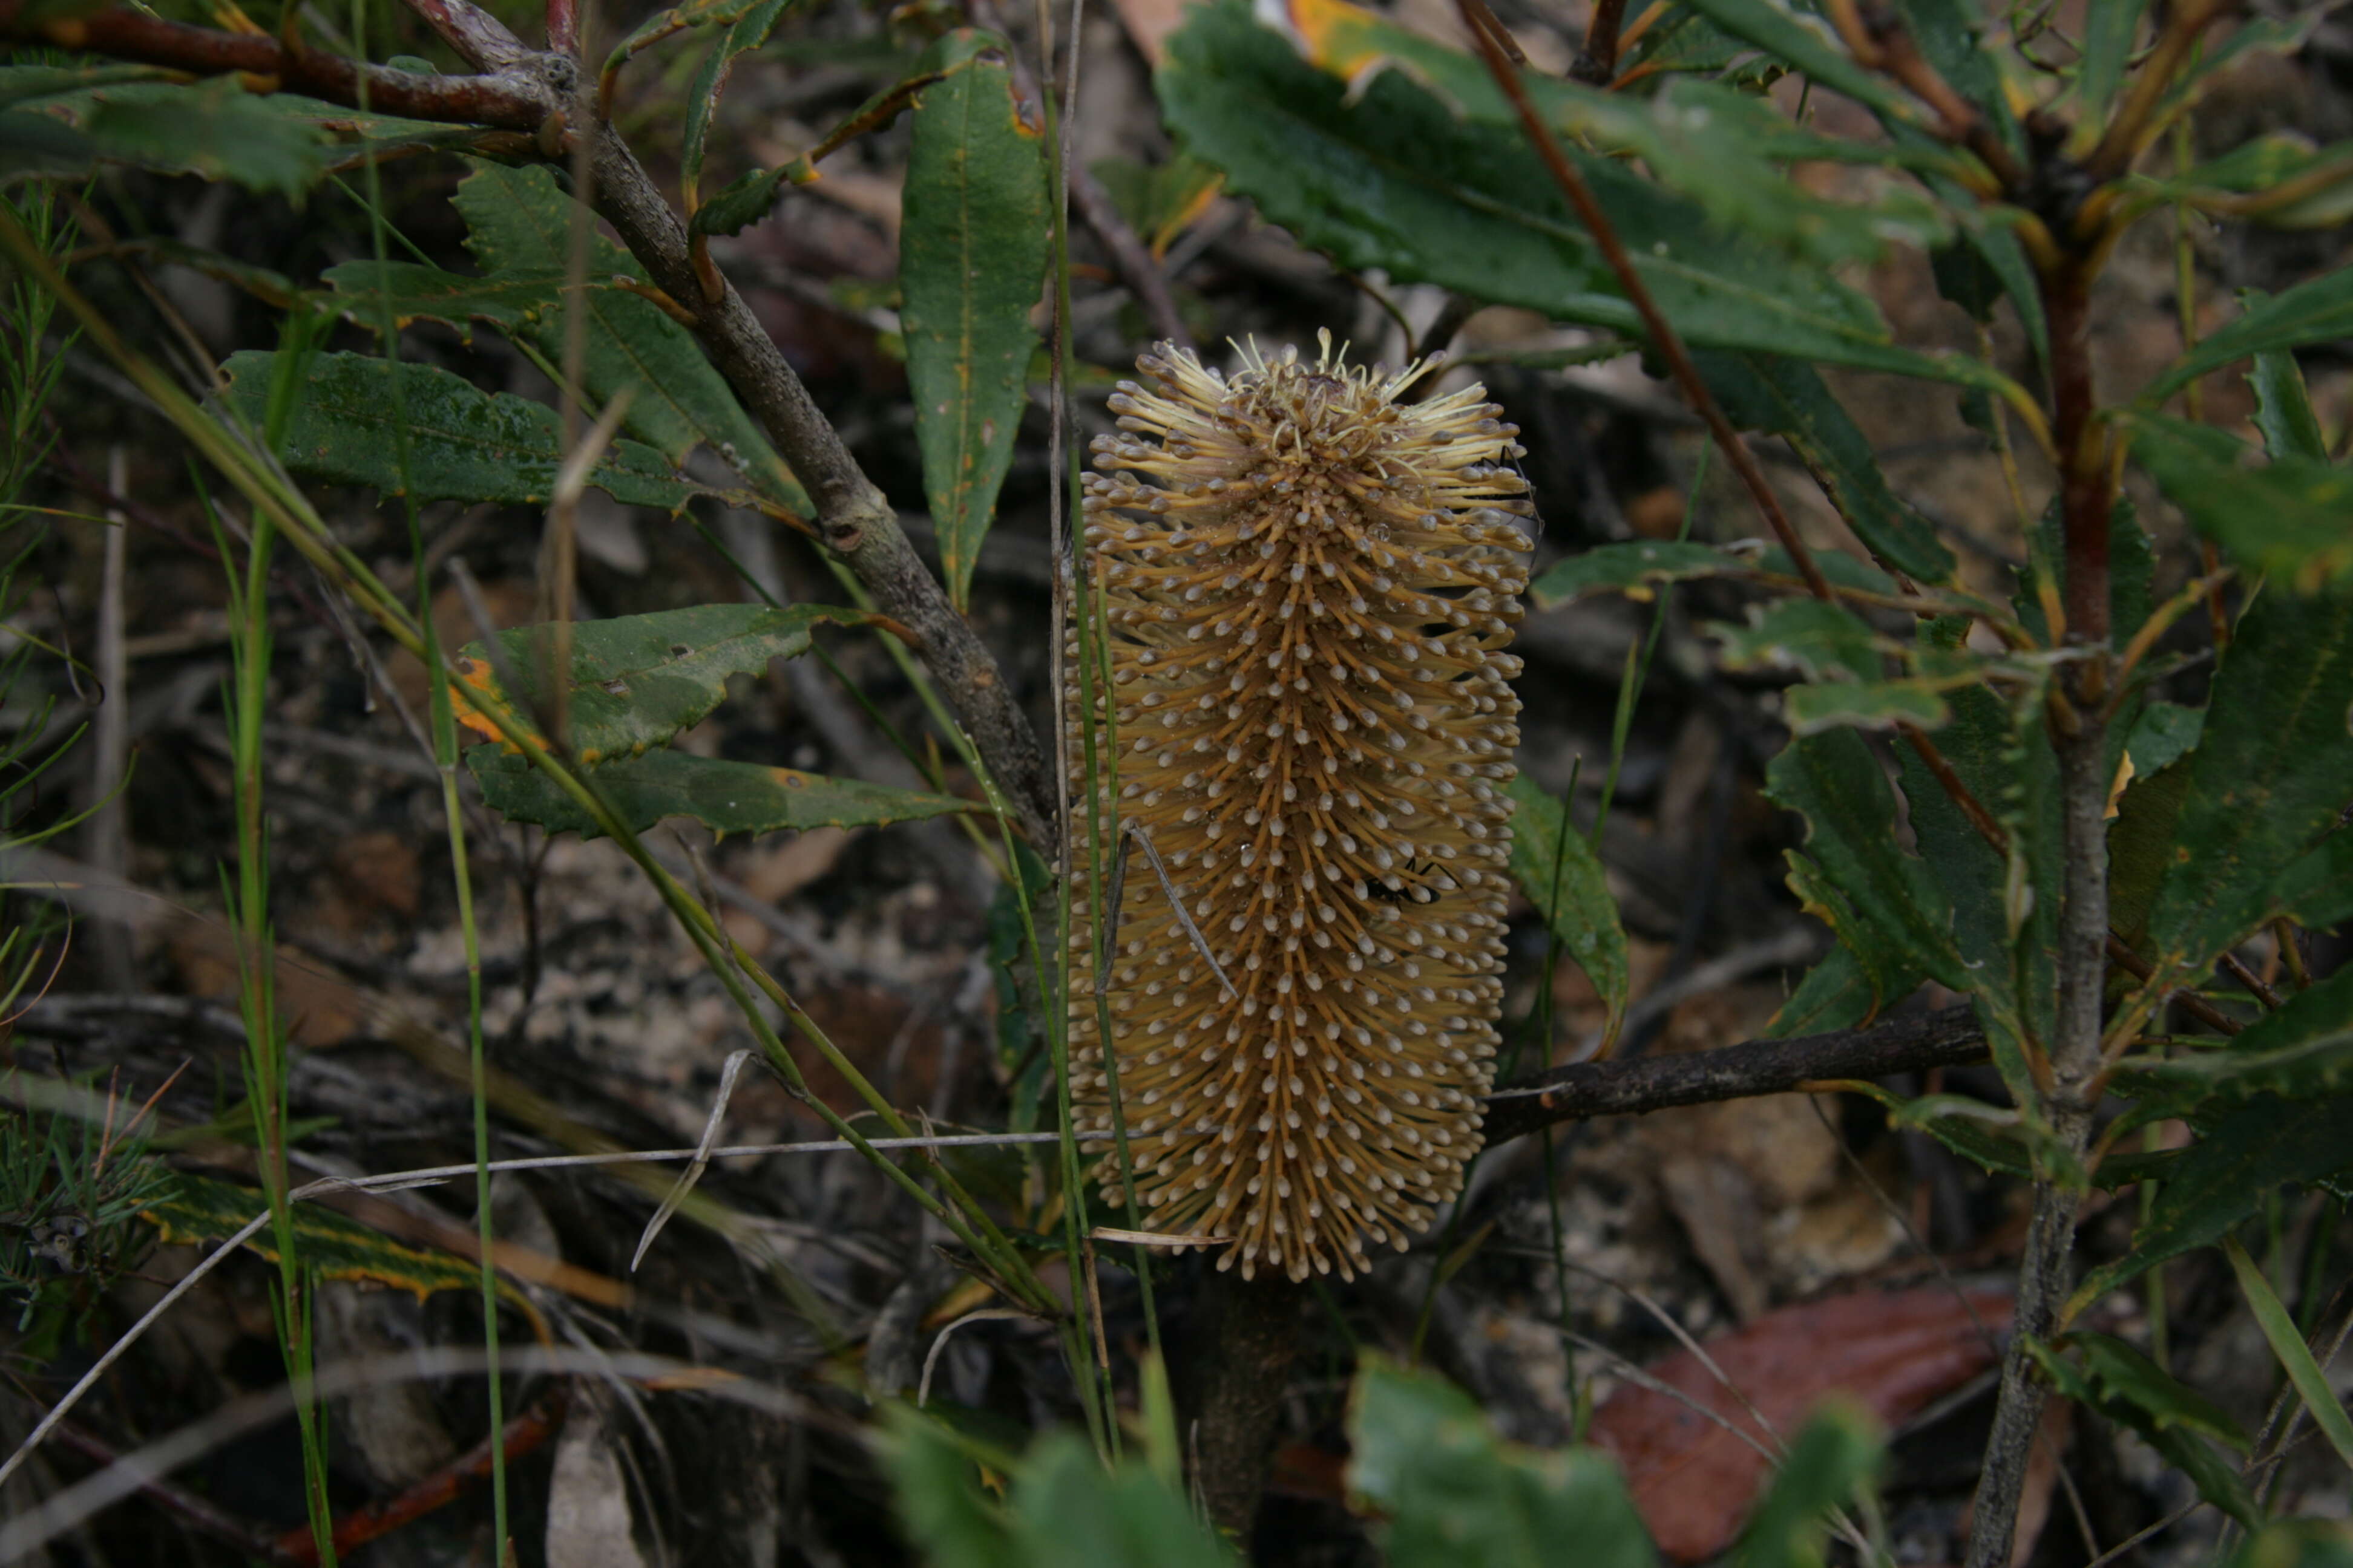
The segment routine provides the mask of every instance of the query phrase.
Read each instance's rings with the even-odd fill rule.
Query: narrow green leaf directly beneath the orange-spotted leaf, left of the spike
[[[511,823],[534,823],[548,832],[598,837],[581,806],[529,757],[475,745],[466,766],[482,785],[482,799]],[[894,790],[856,778],[826,778],[758,762],[694,757],[652,750],[588,769],[588,783],[614,816],[642,832],[671,816],[687,816],[713,832],[776,832],[784,827],[887,827],[955,811],[979,811],[974,802],[922,790]]]

